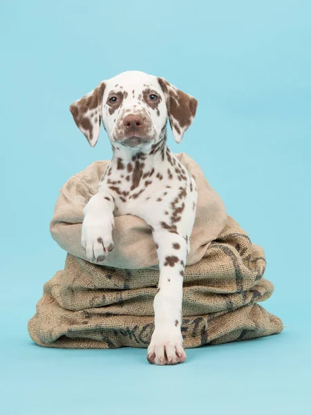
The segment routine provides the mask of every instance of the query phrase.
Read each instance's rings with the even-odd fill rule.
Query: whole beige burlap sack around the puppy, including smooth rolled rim
[[[263,248],[227,216],[194,160],[176,156],[198,189],[183,288],[185,347],[280,333],[279,317],[258,304],[273,292],[263,277]],[[116,216],[115,248],[102,264],[86,261],[80,244],[83,208],[108,163],[93,163],[60,190],[50,230],[68,254],[64,270],[44,285],[37,313],[28,322],[30,337],[40,346],[106,349],[150,342],[159,270],[149,225],[137,216]]]

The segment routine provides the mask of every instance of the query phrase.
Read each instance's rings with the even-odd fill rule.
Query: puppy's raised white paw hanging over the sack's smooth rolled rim
[[[113,250],[112,230],[115,225],[113,214],[100,217],[86,214],[82,223],[82,248],[89,261],[102,262]]]

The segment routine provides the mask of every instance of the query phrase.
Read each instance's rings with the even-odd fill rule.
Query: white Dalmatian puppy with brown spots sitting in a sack
[[[167,147],[167,118],[180,142],[197,104],[163,78],[129,71],[101,82],[70,106],[90,145],[96,144],[102,122],[113,149],[98,193],[84,208],[86,256],[102,262],[113,249],[114,216],[139,216],[153,232],[160,279],[147,359],[157,365],[174,365],[186,358],[180,331],[182,277],[197,193],[194,178]]]

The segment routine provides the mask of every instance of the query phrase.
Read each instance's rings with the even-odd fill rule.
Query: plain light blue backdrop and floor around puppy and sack
[[[1,1],[3,414],[292,414],[310,408],[310,1]],[[42,349],[28,337],[42,286],[63,268],[50,237],[59,188],[111,158],[68,111],[138,69],[199,101],[180,145],[265,248],[281,335],[188,351]],[[4,181],[3,181],[4,177]]]

